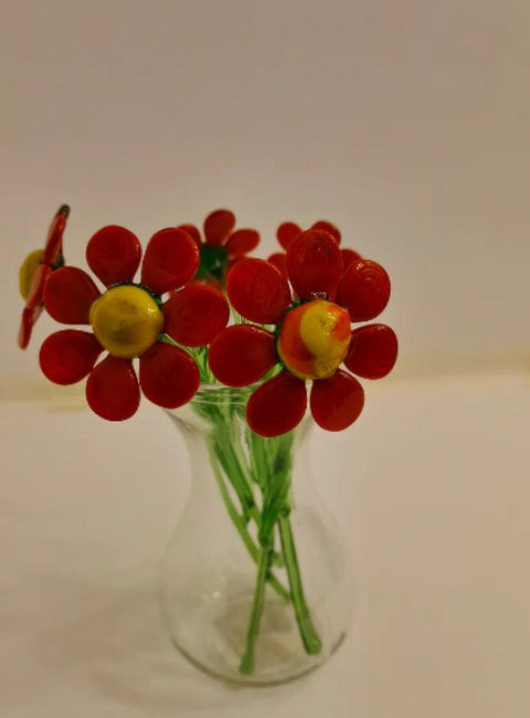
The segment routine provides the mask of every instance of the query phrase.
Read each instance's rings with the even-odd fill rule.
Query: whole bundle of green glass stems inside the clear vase
[[[191,406],[208,422],[213,475],[234,528],[256,564],[246,643],[240,663],[240,672],[251,675],[267,584],[282,601],[293,605],[306,652],[317,655],[321,650],[304,595],[290,524],[295,432],[275,439],[255,434],[246,425],[241,391],[219,387],[215,400],[212,399],[204,403],[198,395]],[[239,421],[234,421],[234,413]]]

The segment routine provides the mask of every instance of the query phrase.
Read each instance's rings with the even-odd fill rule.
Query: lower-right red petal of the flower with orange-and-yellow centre
[[[364,405],[364,391],[354,377],[340,369],[329,379],[312,382],[311,414],[322,429],[342,431]]]

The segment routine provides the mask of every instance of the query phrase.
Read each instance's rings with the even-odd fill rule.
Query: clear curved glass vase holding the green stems
[[[162,613],[195,666],[265,685],[312,671],[340,645],[352,582],[311,478],[311,420],[263,439],[246,425],[247,397],[202,387],[168,412],[189,450],[192,486],[163,560]]]

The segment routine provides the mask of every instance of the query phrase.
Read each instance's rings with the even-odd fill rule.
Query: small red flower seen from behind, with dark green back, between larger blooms
[[[226,272],[239,260],[252,252],[259,243],[256,230],[235,230],[235,214],[230,210],[215,210],[204,220],[204,241],[194,224],[181,224],[197,242],[201,263],[197,279],[214,286],[224,286]]]

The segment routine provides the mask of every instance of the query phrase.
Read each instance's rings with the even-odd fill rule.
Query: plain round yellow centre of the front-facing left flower
[[[97,340],[109,353],[132,359],[157,341],[163,315],[148,292],[124,284],[107,289],[94,302],[91,324]]]

